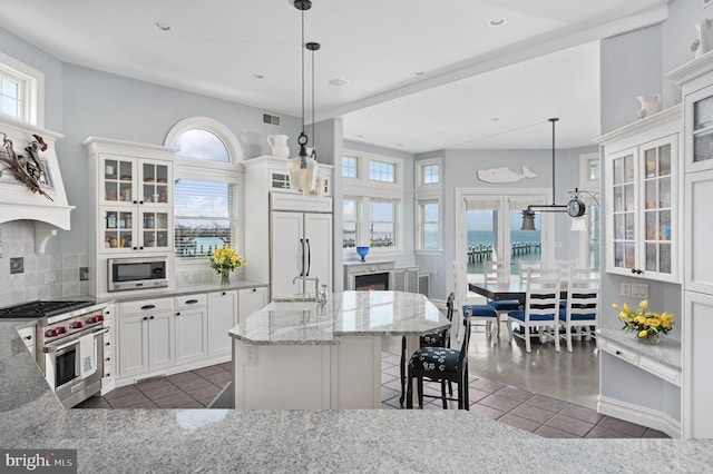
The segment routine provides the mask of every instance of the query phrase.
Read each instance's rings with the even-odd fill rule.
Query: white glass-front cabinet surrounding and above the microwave
[[[175,150],[95,137],[82,145],[89,157],[89,294],[106,297],[108,258],[173,253]]]

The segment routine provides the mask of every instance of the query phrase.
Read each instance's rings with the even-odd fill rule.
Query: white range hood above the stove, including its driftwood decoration
[[[0,224],[33,220],[35,251],[38,254],[45,251],[47,241],[57,235],[58,228],[69,230],[69,213],[75,208],[67,203],[55,151],[55,141],[62,137],[10,117],[0,117]],[[17,172],[25,172],[22,170],[31,178],[19,179]]]

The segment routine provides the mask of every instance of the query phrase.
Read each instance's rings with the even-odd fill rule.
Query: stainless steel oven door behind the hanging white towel
[[[58,340],[45,347],[45,378],[65,408],[71,408],[101,389],[104,376],[104,334],[107,328],[94,333],[94,357],[96,371],[81,378],[81,357],[79,337],[71,340]]]

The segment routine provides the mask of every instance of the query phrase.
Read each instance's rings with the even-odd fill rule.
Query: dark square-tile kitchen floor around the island
[[[384,409],[400,409],[399,362],[399,355],[382,353],[381,406]],[[228,362],[124,386],[104,397],[91,397],[77,408],[203,408],[231,381],[231,367]],[[427,384],[424,393],[438,395],[440,386]],[[592,408],[475,376],[470,377],[469,396],[471,413],[544,437],[668,437]],[[438,398],[424,398],[423,403],[423,409],[442,409]],[[456,402],[448,403],[450,408],[456,408]]]

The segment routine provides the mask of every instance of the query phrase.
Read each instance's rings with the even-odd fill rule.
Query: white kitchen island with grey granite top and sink
[[[414,293],[334,293],[323,304],[284,299],[231,330],[235,408],[380,408],[382,337],[407,337],[410,354],[420,335],[451,325]]]

